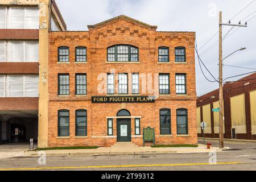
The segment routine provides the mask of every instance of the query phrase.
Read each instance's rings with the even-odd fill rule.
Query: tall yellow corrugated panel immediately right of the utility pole
[[[230,98],[232,128],[236,133],[246,133],[245,94]]]

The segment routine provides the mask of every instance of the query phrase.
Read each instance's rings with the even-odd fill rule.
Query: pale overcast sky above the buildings
[[[214,77],[218,78],[218,43],[213,44],[218,40],[218,34],[204,46],[218,31],[218,12],[222,10],[223,22],[228,22],[253,0],[72,0],[72,3],[56,0],[56,2],[67,23],[68,30],[88,30],[88,24],[96,24],[123,14],[156,25],[158,31],[195,31],[200,57]],[[256,15],[255,11],[256,1],[234,17],[232,23],[238,23],[251,13],[253,14],[245,20],[253,18]],[[242,23],[245,23],[245,20]],[[223,35],[230,28],[224,27]],[[237,27],[234,27],[223,42],[223,57],[241,47],[247,49],[230,56],[224,64],[256,69],[255,40],[256,17],[248,22],[247,28],[242,27],[237,30]],[[210,51],[204,53],[208,48]],[[224,77],[253,71],[256,70],[225,66]],[[210,80],[213,80],[207,71],[204,70],[204,72]],[[236,78],[231,80],[236,80]],[[205,80],[197,59],[196,82],[197,96],[218,88],[217,82],[211,83]]]

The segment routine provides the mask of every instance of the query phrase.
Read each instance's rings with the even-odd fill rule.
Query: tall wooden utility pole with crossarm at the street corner
[[[220,148],[224,148],[224,132],[223,132],[223,125],[224,125],[224,102],[223,102],[223,72],[222,72],[222,26],[233,26],[233,27],[247,27],[247,22],[245,22],[245,25],[241,24],[231,24],[230,20],[229,23],[222,23],[222,11],[220,11],[220,22],[219,22],[219,106],[220,106],[220,111],[219,111],[219,138],[220,138]]]

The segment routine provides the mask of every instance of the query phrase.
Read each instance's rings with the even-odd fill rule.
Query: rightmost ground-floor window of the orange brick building
[[[177,135],[188,134],[188,110],[177,109]]]

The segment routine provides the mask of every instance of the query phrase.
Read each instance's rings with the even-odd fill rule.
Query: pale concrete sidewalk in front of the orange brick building
[[[193,154],[193,153],[208,153],[210,151],[220,152],[217,147],[212,147],[210,150],[206,146],[199,145],[199,147],[100,147],[97,149],[83,149],[83,150],[46,150],[46,156],[56,155],[149,155],[149,154]],[[38,156],[40,151],[26,151],[24,156]]]

